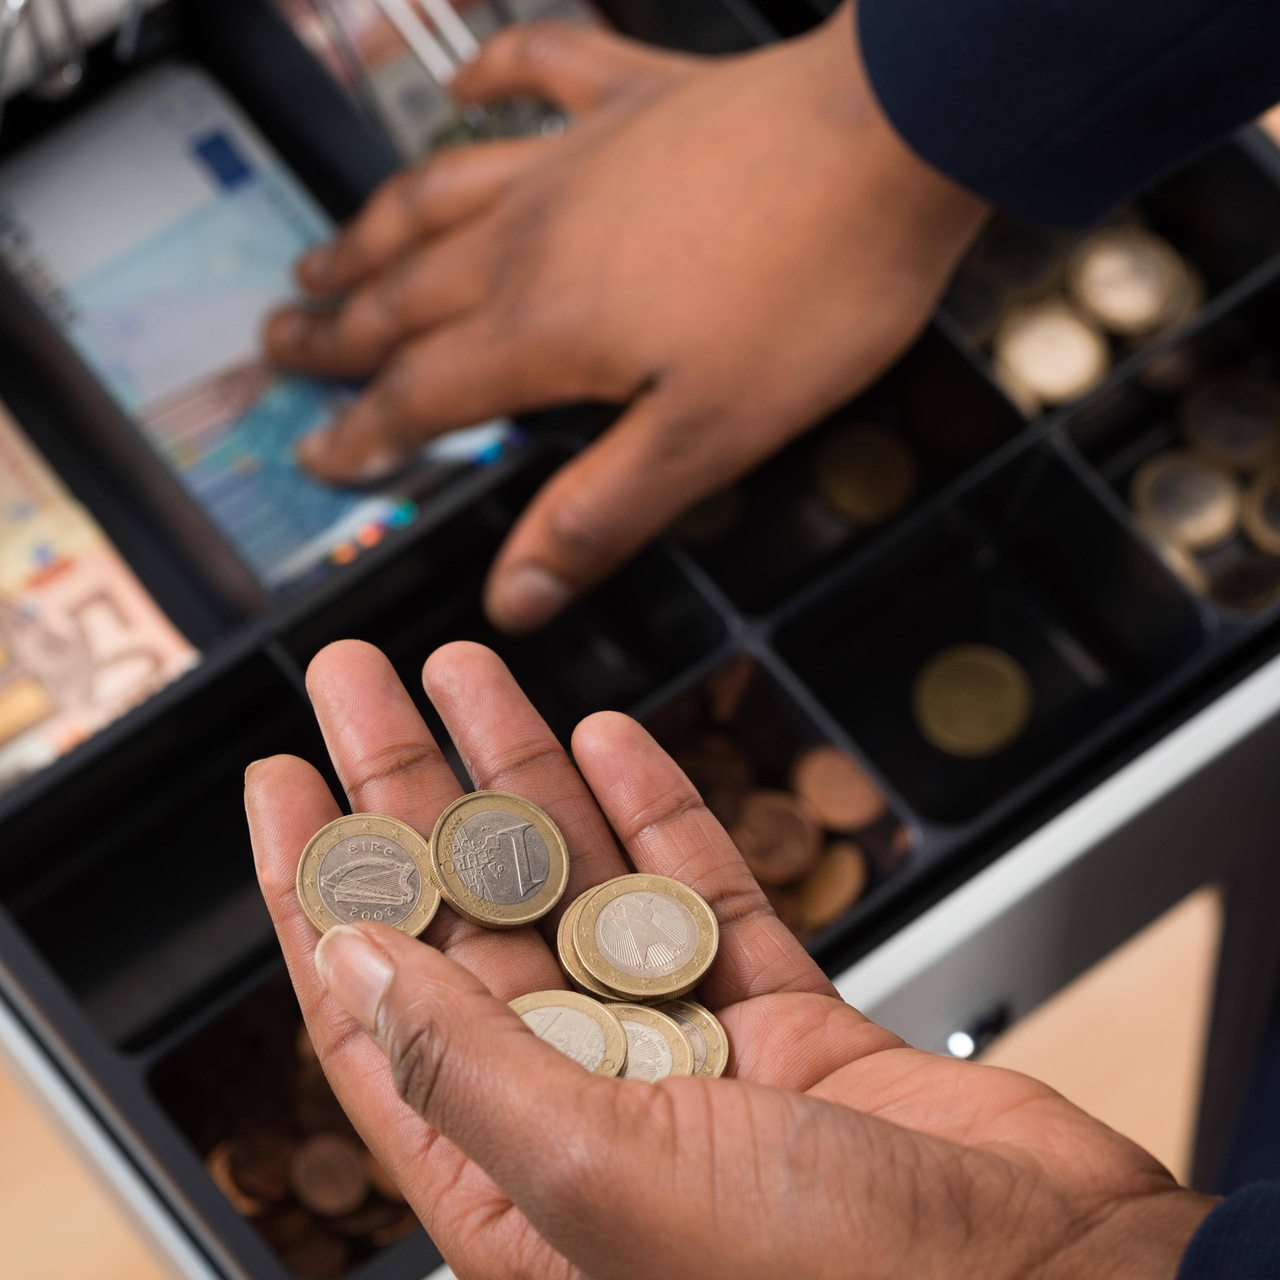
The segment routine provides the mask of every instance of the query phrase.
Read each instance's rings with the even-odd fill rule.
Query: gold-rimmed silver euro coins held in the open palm
[[[535,804],[499,791],[462,796],[429,841],[394,818],[351,814],[323,827],[298,863],[298,900],[324,932],[376,920],[411,936],[442,899],[490,929],[532,924],[561,900],[568,850]],[[681,1000],[716,959],[710,908],[678,881],[622,876],[576,899],[561,918],[559,956],[580,992],[543,991],[512,1007],[548,1043],[598,1075],[659,1080],[718,1076],[728,1039]]]

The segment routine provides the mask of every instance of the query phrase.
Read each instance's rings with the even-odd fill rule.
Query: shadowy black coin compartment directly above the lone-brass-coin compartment
[[[815,481],[824,442],[864,424],[887,429],[916,468],[901,508],[869,527],[844,518]],[[929,329],[874,387],[677,522],[673,536],[737,607],[763,614],[908,518],[1021,428],[970,361]]]

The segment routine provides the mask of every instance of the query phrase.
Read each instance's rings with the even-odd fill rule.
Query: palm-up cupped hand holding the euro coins
[[[1211,1202],[1044,1085],[844,1004],[637,723],[590,717],[571,760],[489,650],[449,645],[424,681],[475,785],[564,832],[562,906],[631,868],[707,899],[721,948],[699,998],[731,1042],[732,1078],[646,1084],[536,1039],[506,1002],[564,986],[554,916],[497,933],[442,906],[425,946],[361,924],[317,948],[294,872],[338,806],[302,760],[253,765],[259,876],[312,1042],[460,1276],[1174,1275]],[[429,833],[460,787],[387,659],[344,641],[307,684],[352,808]]]

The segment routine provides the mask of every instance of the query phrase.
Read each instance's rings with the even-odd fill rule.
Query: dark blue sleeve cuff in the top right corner
[[[1083,225],[1280,101],[1280,0],[858,0],[893,127],[997,209]]]

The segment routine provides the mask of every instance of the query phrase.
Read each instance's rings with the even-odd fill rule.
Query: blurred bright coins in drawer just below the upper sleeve
[[[943,310],[992,356],[1028,416],[1074,401],[1112,361],[1180,328],[1204,300],[1196,269],[1134,221],[1073,241],[996,218]]]

